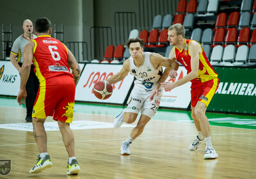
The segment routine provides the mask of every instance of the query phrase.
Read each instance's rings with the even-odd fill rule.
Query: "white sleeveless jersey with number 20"
[[[163,74],[162,66],[157,69],[150,61],[151,52],[143,52],[143,62],[140,66],[134,65],[134,59],[129,58],[130,74],[136,77],[134,88],[142,88],[145,91],[151,91],[155,88],[161,75]]]

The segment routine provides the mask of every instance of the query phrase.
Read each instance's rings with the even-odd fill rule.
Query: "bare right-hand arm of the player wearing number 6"
[[[68,67],[71,68],[72,74],[74,76],[75,84],[77,85],[81,75],[81,69],[72,52],[68,48],[67,48],[67,51],[68,51]]]

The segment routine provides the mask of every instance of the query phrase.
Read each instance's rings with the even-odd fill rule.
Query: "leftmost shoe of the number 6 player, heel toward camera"
[[[38,155],[37,160],[38,162],[36,162],[36,165],[29,171],[29,173],[40,173],[44,169],[52,167],[50,155],[45,155],[44,159],[41,159],[40,155]]]

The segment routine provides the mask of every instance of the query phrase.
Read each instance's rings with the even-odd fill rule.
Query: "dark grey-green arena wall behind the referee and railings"
[[[128,38],[130,29],[127,30],[127,28],[136,27],[139,31],[150,30],[155,15],[167,13],[174,15],[178,2],[179,0],[0,0],[0,24],[4,25],[4,31],[10,31],[10,25],[12,25],[12,42],[14,42],[23,33],[22,22],[25,19],[35,22],[38,17],[47,17],[52,22],[53,32],[54,24],[56,24],[56,31],[61,31],[61,24],[63,24],[64,43],[87,43],[88,57],[85,56],[85,58],[90,61],[93,58],[100,58],[104,54],[104,48],[110,45],[108,43],[113,45],[124,43],[126,39],[119,39],[116,36],[122,33],[124,38]],[[130,18],[129,15],[124,17],[122,16],[124,14],[116,12],[129,12],[129,15],[132,13],[135,17]],[[125,24],[117,22],[117,19],[122,21],[124,18]],[[132,22],[128,23],[129,20]],[[103,37],[98,35],[98,27],[109,27],[111,35],[107,34]],[[52,36],[54,37],[53,33]],[[61,35],[58,34],[56,38],[61,40]],[[104,38],[111,38],[111,40],[102,42]],[[4,40],[8,39],[10,39],[9,35],[4,36]],[[1,35],[0,42],[2,41]],[[2,48],[3,43],[0,44],[0,59],[3,59]]]

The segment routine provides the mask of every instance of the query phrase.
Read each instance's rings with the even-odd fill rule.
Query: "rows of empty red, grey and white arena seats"
[[[145,50],[164,52],[168,57],[172,47],[168,45],[167,29],[172,24],[180,23],[186,29],[186,38],[202,44],[212,65],[253,65],[256,63],[251,52],[252,46],[255,48],[256,45],[256,0],[233,1],[234,6],[224,1],[180,0],[175,15],[158,14],[150,30],[132,29],[129,38],[142,38]],[[120,55],[104,56],[106,58],[127,59],[129,49],[123,45]]]

